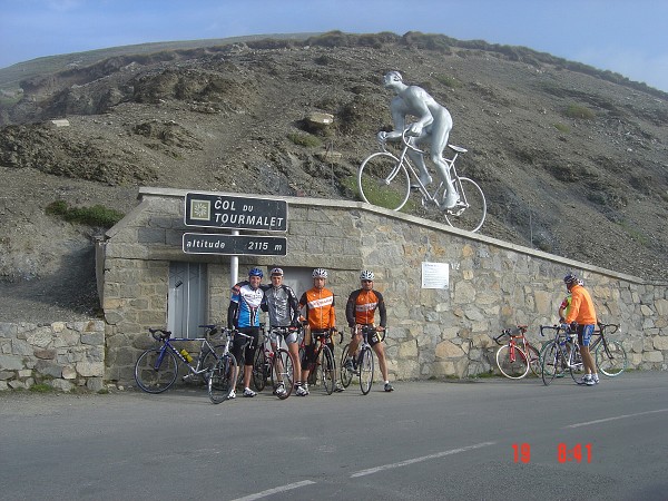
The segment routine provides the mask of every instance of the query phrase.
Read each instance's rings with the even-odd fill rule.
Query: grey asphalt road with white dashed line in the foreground
[[[0,499],[666,500],[667,383],[397,382],[219,405],[199,389],[6,393]]]

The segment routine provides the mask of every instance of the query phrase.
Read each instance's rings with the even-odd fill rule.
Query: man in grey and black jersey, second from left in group
[[[263,286],[265,303],[263,310],[269,314],[269,341],[272,350],[276,351],[276,334],[272,327],[291,327],[291,333],[285,336],[287,351],[293,358],[293,381],[298,396],[306,396],[302,387],[302,366],[299,364],[299,346],[297,344],[297,326],[299,325],[299,306],[294,291],[283,283],[283,269],[273,268],[269,272],[272,284]],[[283,383],[276,389],[276,394],[285,394]]]

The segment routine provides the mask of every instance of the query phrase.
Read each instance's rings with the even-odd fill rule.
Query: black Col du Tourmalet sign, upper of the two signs
[[[186,226],[285,232],[287,202],[204,193],[186,194]]]

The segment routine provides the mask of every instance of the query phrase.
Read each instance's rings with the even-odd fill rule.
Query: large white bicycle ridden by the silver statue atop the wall
[[[403,148],[394,155],[387,151],[385,143],[380,143],[381,151],[369,156],[357,171],[357,189],[362,199],[369,204],[400,210],[409,202],[411,190],[420,191],[422,207],[435,206],[443,209],[445,222],[453,227],[478,232],[487,216],[487,200],[480,186],[468,177],[460,177],[454,163],[466,149],[448,145],[454,151],[452,158],[443,158],[450,166],[450,177],[459,195],[459,202],[452,208],[443,207],[445,185],[441,181],[433,193],[420,180],[419,170],[409,158],[409,149],[425,155],[414,146],[414,138],[402,135]]]

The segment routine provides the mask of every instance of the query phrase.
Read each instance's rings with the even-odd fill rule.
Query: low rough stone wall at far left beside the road
[[[105,323],[0,323],[0,390],[45,383],[69,392],[102,389]]]

